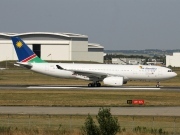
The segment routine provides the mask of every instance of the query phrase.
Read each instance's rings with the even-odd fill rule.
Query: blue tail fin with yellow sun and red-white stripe
[[[16,54],[18,56],[19,62],[30,62],[30,63],[43,63],[28,46],[19,37],[11,37]]]

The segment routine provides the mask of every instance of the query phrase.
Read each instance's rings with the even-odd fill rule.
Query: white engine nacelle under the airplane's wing
[[[106,77],[103,80],[104,84],[111,86],[122,86],[123,77]]]

